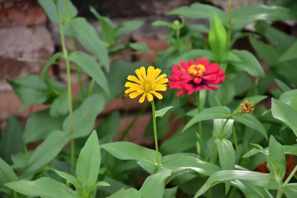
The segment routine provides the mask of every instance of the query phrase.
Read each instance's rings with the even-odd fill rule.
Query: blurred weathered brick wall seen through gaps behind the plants
[[[122,39],[120,43],[143,42],[152,50],[151,53],[141,55],[131,55],[124,57],[126,61],[145,60],[152,65],[155,63],[156,54],[168,48],[166,44],[166,27],[154,27],[150,24],[155,20],[172,22],[177,19],[175,16],[166,16],[172,9],[183,5],[190,5],[194,2],[201,2],[215,5],[227,10],[228,0],[72,0],[79,10],[79,15],[87,17],[88,20],[99,29],[99,23],[93,18],[89,11],[89,6],[94,6],[99,14],[111,18],[115,24],[126,20],[144,20],[145,24],[132,34]],[[272,0],[233,0],[233,9],[254,3],[269,4]],[[296,9],[297,10],[297,9]],[[204,24],[209,27],[208,19],[187,19],[189,23]],[[297,36],[296,21],[277,22],[274,27]],[[246,27],[246,31],[253,32],[253,26]],[[206,35],[205,35],[206,37]],[[71,49],[70,41],[67,40],[67,47]],[[84,50],[77,44],[79,50]],[[248,39],[238,40],[234,48],[247,49],[254,52],[250,47]],[[17,78],[29,74],[39,74],[44,63],[49,57],[61,50],[60,35],[56,24],[52,24],[43,8],[37,0],[0,0],[0,127],[6,124],[10,115],[17,115],[22,123],[25,123],[29,115],[47,108],[46,105],[30,105],[23,112],[20,112],[21,102],[12,92],[11,87],[5,82],[5,78]],[[38,59],[28,62],[20,58]],[[260,60],[260,59],[259,59]],[[60,60],[63,61],[63,60]],[[265,70],[268,66],[263,61],[261,64]],[[66,86],[66,70],[58,65],[51,66],[50,76],[61,81]],[[74,94],[79,86],[76,74],[72,76],[72,89]],[[83,76],[85,83],[89,81],[87,76]],[[275,86],[275,85],[274,85]],[[122,99],[120,97],[112,100],[100,114],[100,118],[114,111],[120,110],[121,126],[120,133],[135,117],[139,109],[144,104],[138,100]],[[134,124],[127,136],[131,142],[140,145],[150,145],[152,140],[144,137],[144,131],[148,125],[150,113],[143,114]],[[169,131],[174,132],[182,126],[182,122],[173,121],[171,118]],[[170,133],[168,134],[168,136]],[[165,137],[166,138],[166,137]]]

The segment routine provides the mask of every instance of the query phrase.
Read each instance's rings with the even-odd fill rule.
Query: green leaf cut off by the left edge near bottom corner
[[[0,158],[0,188],[8,191],[7,193],[12,196],[13,192],[10,189],[7,189],[4,184],[9,182],[16,182],[17,176],[14,171],[9,167],[9,165]]]

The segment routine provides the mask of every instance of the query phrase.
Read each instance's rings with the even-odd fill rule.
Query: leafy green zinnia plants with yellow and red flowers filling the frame
[[[1,192],[10,198],[296,197],[297,183],[292,182],[296,182],[293,176],[297,166],[294,163],[291,168],[286,157],[297,155],[296,38],[265,22],[297,18],[292,10],[252,5],[231,11],[232,0],[228,13],[200,3],[172,10],[168,14],[180,15],[181,21],[152,24],[168,27],[166,39],[170,45],[158,54],[159,69],[154,69],[145,62],[116,61],[110,65],[122,49],[149,51],[140,43],[115,46],[121,36],[142,22],[114,26],[91,7],[100,23],[99,33],[85,18],[76,17],[71,1],[39,2],[49,19],[59,24],[63,51],[46,62],[40,76],[7,79],[23,102],[22,109],[32,103],[52,105],[30,116],[24,131],[15,117],[9,118],[0,142]],[[210,29],[189,25],[185,17],[209,18]],[[251,22],[257,23],[258,35],[242,32]],[[208,39],[198,32],[208,33]],[[72,41],[70,54],[64,35]],[[251,52],[232,49],[237,39],[246,36],[269,64],[269,73],[264,73]],[[261,36],[268,44],[259,40]],[[77,51],[75,40],[99,61]],[[56,62],[60,57],[65,65]],[[76,66],[70,68],[70,62]],[[48,67],[55,63],[67,68],[67,90],[47,74]],[[77,71],[80,81],[77,96],[71,93],[70,69]],[[170,75],[170,89],[163,96],[154,93],[166,90],[166,75],[157,78],[160,69]],[[134,71],[137,77],[132,76]],[[152,71],[157,71],[154,78]],[[92,78],[87,86],[80,80],[82,72]],[[125,84],[127,77],[136,84]],[[260,102],[270,100],[265,94],[274,81],[280,89],[272,90],[274,98],[271,109],[267,109]],[[132,92],[130,98],[143,95],[140,102],[146,96],[151,101],[152,118],[146,136],[154,139],[155,150],[112,142],[119,129],[119,112],[109,114],[93,131],[98,114],[108,101],[124,92],[124,85],[129,88],[126,94]],[[125,135],[146,108],[127,127]],[[183,118],[184,127],[161,141],[173,115]],[[7,144],[11,139],[15,147]],[[38,148],[27,150],[26,144],[43,139]],[[68,142],[70,147],[60,152]],[[267,172],[256,171],[266,168],[265,162]],[[139,178],[146,174],[149,176],[140,187]]]

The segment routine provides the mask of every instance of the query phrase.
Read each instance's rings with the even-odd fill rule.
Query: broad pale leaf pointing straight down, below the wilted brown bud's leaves
[[[235,150],[232,143],[226,139],[216,139],[215,144],[219,151],[220,164],[223,170],[234,170],[235,167]]]

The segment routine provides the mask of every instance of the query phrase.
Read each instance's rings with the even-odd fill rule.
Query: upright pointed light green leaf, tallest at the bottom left
[[[82,148],[76,164],[76,175],[82,185],[82,190],[90,191],[90,188],[96,184],[100,162],[99,140],[94,130],[88,138],[85,147]]]

